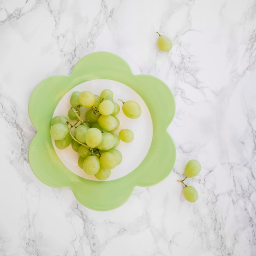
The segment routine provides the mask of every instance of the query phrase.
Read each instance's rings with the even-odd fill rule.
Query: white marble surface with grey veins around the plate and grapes
[[[40,182],[27,157],[32,90],[95,51],[157,76],[176,101],[173,171],[107,212]],[[255,98],[254,0],[0,1],[0,256],[255,256]],[[194,204],[176,182],[192,158]]]

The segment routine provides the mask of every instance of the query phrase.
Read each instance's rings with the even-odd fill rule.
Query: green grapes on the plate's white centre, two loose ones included
[[[71,108],[65,116],[55,116],[51,121],[51,137],[58,149],[65,149],[70,144],[78,156],[77,164],[88,175],[98,180],[106,180],[111,170],[122,161],[122,154],[117,150],[121,141],[130,143],[134,133],[130,129],[115,131],[120,126],[117,115],[119,105],[113,100],[114,94],[105,89],[100,95],[90,91],[73,92],[70,98]],[[124,114],[132,119],[141,115],[141,108],[135,101],[122,101]],[[82,117],[80,109],[85,108]],[[74,124],[71,124],[72,120]]]

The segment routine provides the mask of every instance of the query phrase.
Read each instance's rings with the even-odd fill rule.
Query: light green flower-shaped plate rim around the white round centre
[[[51,119],[65,94],[81,83],[97,79],[128,86],[143,99],[152,119],[153,135],[146,156],[134,170],[115,180],[90,180],[75,174],[60,160],[50,137]],[[167,128],[174,114],[173,94],[161,80],[150,75],[132,74],[129,65],[115,54],[88,54],[76,63],[70,76],[51,76],[39,83],[31,94],[29,117],[37,130],[29,146],[31,169],[48,186],[71,188],[85,207],[96,211],[115,209],[129,199],[135,186],[155,185],[173,169],[176,149]]]

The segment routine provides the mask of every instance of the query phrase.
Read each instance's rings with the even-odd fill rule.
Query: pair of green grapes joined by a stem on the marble
[[[186,180],[186,178],[193,178],[197,176],[200,173],[201,168],[201,164],[197,160],[191,159],[185,166],[184,175],[186,177],[183,180],[177,180],[178,182],[182,182],[182,184],[184,184],[185,187],[183,189],[183,195],[184,198],[189,202],[195,202],[198,200],[198,191],[193,186],[187,186],[184,183],[184,180]]]

